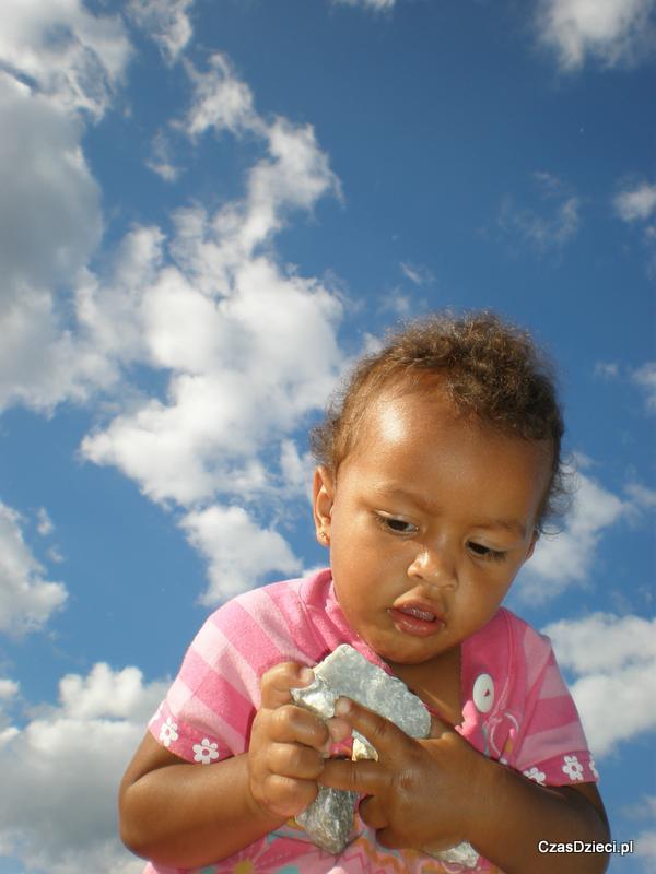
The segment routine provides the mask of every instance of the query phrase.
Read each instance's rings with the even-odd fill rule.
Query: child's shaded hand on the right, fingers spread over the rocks
[[[342,702],[350,705],[345,713]],[[432,736],[418,741],[349,699],[340,699],[337,712],[371,741],[378,761],[332,759],[319,782],[370,795],[360,815],[382,845],[438,851],[467,839],[483,756],[436,719]]]

